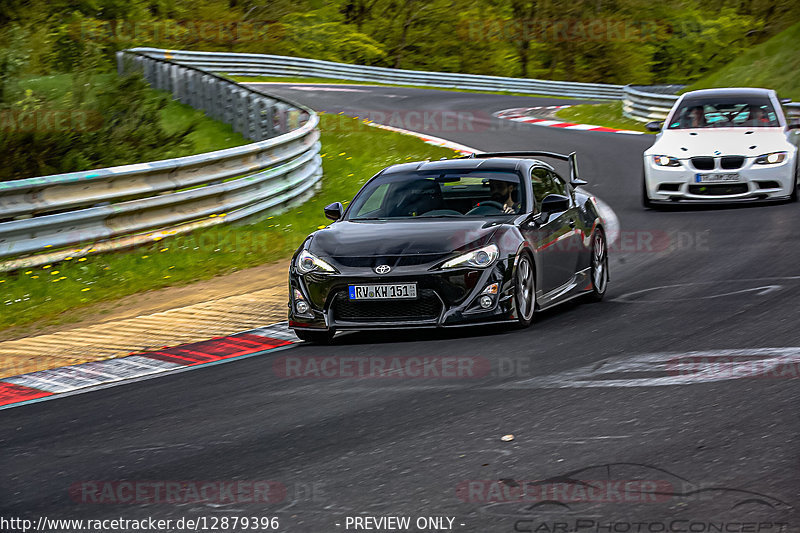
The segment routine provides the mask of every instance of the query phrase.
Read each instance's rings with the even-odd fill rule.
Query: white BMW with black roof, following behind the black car
[[[800,124],[789,124],[775,91],[685,93],[644,153],[645,207],[688,202],[797,200]]]

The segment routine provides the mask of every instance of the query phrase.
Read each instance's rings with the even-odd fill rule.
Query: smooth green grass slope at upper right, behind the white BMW
[[[751,48],[720,70],[687,87],[766,87],[800,100],[800,22]]]

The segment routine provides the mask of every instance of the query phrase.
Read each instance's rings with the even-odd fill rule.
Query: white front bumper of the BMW
[[[663,167],[645,156],[644,179],[647,195],[652,202],[747,202],[788,198],[794,186],[795,162],[787,158],[776,165],[756,165],[748,158],[741,168],[722,169],[717,158],[713,170],[698,170],[689,160],[678,167]],[[704,183],[706,174],[736,174],[735,181]]]

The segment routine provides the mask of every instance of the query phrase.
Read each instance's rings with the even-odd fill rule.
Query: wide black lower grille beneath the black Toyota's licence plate
[[[430,289],[419,291],[416,300],[351,300],[346,291],[333,300],[333,318],[348,322],[382,322],[385,320],[435,320],[442,303]]]

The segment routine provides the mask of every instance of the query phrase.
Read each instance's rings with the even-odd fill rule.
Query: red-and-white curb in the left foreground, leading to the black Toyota
[[[298,342],[286,322],[154,352],[0,379],[0,409],[175,370],[241,359]]]

